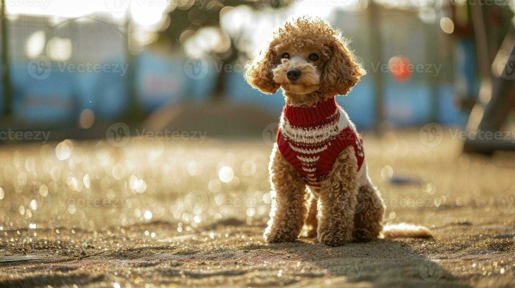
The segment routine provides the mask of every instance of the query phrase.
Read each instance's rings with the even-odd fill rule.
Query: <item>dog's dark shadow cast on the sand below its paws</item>
[[[373,286],[456,286],[456,278],[445,271],[439,259],[431,259],[413,248],[422,242],[433,241],[375,239],[330,247],[314,238],[301,237],[296,242],[254,244],[247,248],[286,254],[286,259],[297,261],[297,265],[276,264],[267,269],[280,269],[283,274],[291,274],[297,279],[329,276],[332,284],[365,281]]]

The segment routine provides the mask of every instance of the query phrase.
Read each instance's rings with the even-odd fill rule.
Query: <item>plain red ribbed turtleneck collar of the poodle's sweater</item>
[[[336,101],[331,97],[313,107],[284,106],[284,116],[291,124],[310,124],[326,119],[336,111]]]

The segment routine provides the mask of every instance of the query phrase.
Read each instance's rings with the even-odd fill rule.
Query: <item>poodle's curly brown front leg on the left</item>
[[[277,145],[270,156],[272,208],[263,237],[267,242],[293,242],[306,218],[306,186],[300,174],[284,159]]]

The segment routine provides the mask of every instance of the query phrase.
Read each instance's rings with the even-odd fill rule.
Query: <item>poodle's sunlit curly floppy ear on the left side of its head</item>
[[[270,48],[264,47],[256,53],[254,59],[247,61],[244,78],[250,86],[265,94],[273,94],[279,90],[279,83],[273,81],[272,69],[277,65],[277,55]]]

